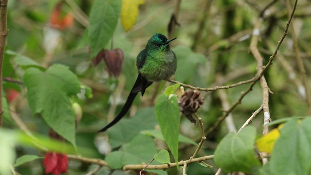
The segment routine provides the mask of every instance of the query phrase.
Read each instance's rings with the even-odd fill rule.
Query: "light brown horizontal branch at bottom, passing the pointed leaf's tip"
[[[214,155],[211,156],[204,156],[204,157],[198,157],[198,158],[191,158],[188,160],[181,160],[178,162],[178,166],[183,166],[184,163],[186,162],[187,164],[193,163],[193,162],[201,162],[203,160],[209,160],[213,159]],[[137,164],[137,165],[124,165],[123,170],[141,170],[145,167],[145,164]],[[167,163],[167,164],[162,164],[162,165],[149,165],[146,169],[152,169],[152,170],[163,170],[167,168],[172,168],[177,166],[176,162],[174,163]]]

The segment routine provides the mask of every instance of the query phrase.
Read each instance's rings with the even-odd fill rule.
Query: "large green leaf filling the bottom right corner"
[[[274,175],[311,174],[311,119],[292,119],[280,129],[270,158]]]

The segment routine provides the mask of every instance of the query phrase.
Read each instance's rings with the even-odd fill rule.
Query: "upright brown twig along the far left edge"
[[[0,127],[2,126],[2,68],[4,59],[4,46],[6,35],[8,35],[7,29],[7,5],[8,0],[0,0]]]

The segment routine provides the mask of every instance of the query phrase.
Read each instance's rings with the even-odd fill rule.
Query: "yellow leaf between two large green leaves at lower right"
[[[280,124],[277,128],[271,130],[267,135],[264,135],[256,140],[256,146],[261,152],[271,154],[276,140],[280,136],[279,129],[283,126]]]

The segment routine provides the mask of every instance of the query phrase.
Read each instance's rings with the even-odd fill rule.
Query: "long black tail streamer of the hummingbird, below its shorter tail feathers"
[[[103,129],[101,129],[100,131],[98,132],[104,132],[106,131],[108,128],[110,128],[111,126],[113,126],[114,124],[118,123],[122,117],[127,113],[127,111],[130,109],[136,95],[138,94],[138,92],[131,92],[129,95],[128,95],[128,98],[127,98],[127,101],[126,103],[123,105],[122,109],[121,109],[121,112],[117,115],[117,117],[112,121],[110,122],[109,124],[107,124]]]

